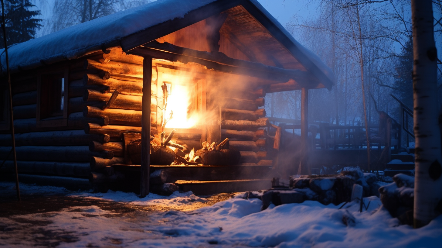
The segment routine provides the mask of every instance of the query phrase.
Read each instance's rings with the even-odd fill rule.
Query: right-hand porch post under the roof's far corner
[[[298,174],[312,174],[308,166],[308,112],[309,112],[309,90],[301,89],[301,161],[299,163]]]

